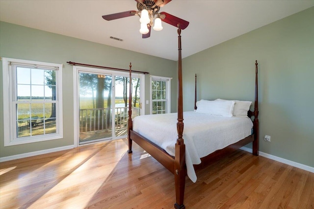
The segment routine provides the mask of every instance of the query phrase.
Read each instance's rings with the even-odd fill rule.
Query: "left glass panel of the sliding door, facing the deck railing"
[[[112,76],[79,72],[79,143],[112,138]]]

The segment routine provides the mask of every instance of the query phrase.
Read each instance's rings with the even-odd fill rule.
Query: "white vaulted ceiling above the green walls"
[[[312,6],[314,0],[172,0],[159,12],[189,22],[181,33],[184,58]],[[138,16],[102,18],[128,10],[137,10],[135,0],[0,0],[0,21],[178,60],[176,27],[163,23],[142,39]]]

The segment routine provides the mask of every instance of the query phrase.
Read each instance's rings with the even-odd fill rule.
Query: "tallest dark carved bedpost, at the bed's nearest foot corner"
[[[179,59],[178,59],[178,139],[175,146],[175,186],[176,186],[176,209],[184,209],[184,187],[185,187],[185,144],[183,141],[183,90],[182,90],[182,55],[181,55],[181,27],[178,24]]]

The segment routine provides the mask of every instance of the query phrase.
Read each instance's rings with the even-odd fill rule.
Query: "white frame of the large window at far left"
[[[16,76],[13,65],[25,66],[30,68],[54,69],[56,76],[56,133],[47,135],[37,135],[30,137],[17,138],[16,109],[14,94],[16,86]],[[2,58],[3,75],[3,128],[4,146],[26,144],[38,141],[63,138],[63,114],[62,114],[62,64],[37,62],[30,60]]]

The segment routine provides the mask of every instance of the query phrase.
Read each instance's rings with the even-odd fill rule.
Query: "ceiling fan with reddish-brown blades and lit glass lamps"
[[[120,18],[126,18],[130,16],[137,15],[140,17],[141,28],[140,33],[142,34],[142,38],[148,38],[151,36],[151,27],[154,25],[154,30],[162,30],[161,21],[171,24],[175,27],[178,27],[178,23],[180,23],[181,29],[185,29],[189,22],[170,15],[166,12],[159,12],[160,7],[166,5],[171,0],[135,0],[137,2],[137,9],[119,12],[110,15],[104,15],[103,18],[107,21],[116,20]],[[155,20],[155,22],[154,22]]]

